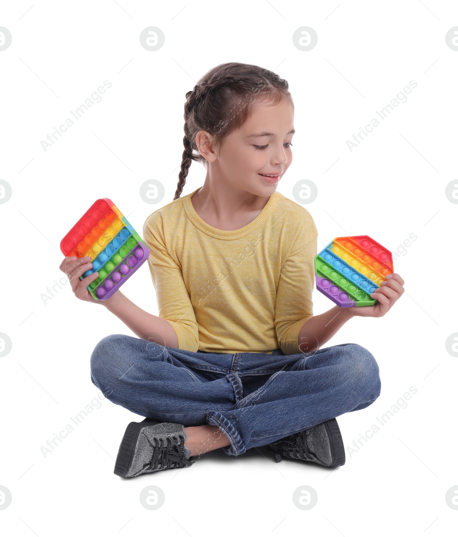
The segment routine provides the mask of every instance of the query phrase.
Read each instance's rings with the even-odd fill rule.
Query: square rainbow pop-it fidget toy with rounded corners
[[[61,241],[64,256],[90,257],[93,272],[99,276],[87,290],[95,300],[107,300],[150,256],[142,238],[127,218],[103,198],[95,201]]]

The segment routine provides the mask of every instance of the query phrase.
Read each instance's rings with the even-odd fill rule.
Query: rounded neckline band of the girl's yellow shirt
[[[210,235],[211,237],[222,238],[226,240],[245,237],[249,233],[253,233],[253,231],[260,227],[265,222],[267,217],[272,213],[274,207],[277,205],[278,197],[280,195],[277,191],[271,194],[269,201],[267,202],[267,204],[264,205],[262,211],[249,224],[243,226],[240,229],[233,229],[231,231],[228,231],[225,229],[213,228],[208,223],[204,222],[201,217],[196,213],[193,206],[193,202],[191,201],[191,197],[201,188],[202,187],[198,187],[194,192],[191,192],[190,194],[183,197],[184,211],[186,211],[189,220],[191,220],[191,222],[193,222],[198,229],[200,229],[207,235]]]

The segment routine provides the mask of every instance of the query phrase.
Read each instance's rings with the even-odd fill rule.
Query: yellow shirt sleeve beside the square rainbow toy
[[[197,352],[198,326],[193,304],[184,285],[181,266],[168,252],[160,227],[158,229],[158,226],[154,225],[151,216],[145,222],[143,236],[150,249],[148,264],[156,289],[159,317],[166,319],[173,326],[179,349]]]

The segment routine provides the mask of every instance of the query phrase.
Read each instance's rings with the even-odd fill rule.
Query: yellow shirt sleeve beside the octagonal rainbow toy
[[[313,238],[311,238],[313,237]],[[284,354],[299,354],[298,336],[302,325],[313,317],[312,293],[315,282],[314,258],[317,253],[317,232],[311,220],[307,233],[301,234],[297,250],[286,258],[280,271],[275,301],[275,328]]]

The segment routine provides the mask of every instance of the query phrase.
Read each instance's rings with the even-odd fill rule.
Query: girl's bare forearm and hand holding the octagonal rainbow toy
[[[298,335],[298,344],[302,352],[319,349],[329,341],[351,317],[382,317],[396,300],[404,293],[404,280],[399,274],[388,274],[382,286],[375,289],[371,297],[377,299],[375,306],[334,308],[309,318]]]

